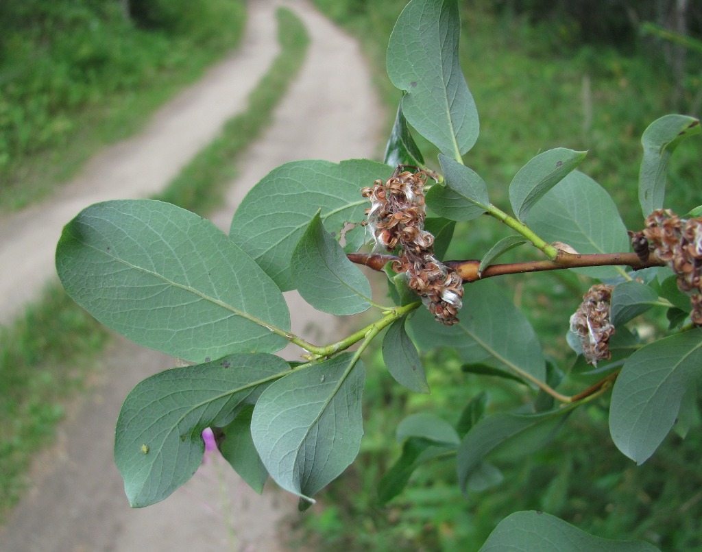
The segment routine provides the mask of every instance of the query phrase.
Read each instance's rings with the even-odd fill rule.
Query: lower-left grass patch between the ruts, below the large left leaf
[[[59,287],[0,327],[0,519],[26,485],[37,450],[53,440],[69,399],[95,370],[107,329]]]

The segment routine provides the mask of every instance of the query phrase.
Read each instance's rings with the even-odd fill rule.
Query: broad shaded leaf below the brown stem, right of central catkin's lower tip
[[[543,381],[545,361],[534,328],[493,282],[481,280],[465,289],[461,322],[438,324],[425,308],[410,319],[409,329],[420,350],[449,347],[463,362],[484,362],[515,373],[518,367]]]

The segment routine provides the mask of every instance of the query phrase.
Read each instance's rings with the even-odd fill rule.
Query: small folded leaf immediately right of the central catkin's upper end
[[[427,205],[451,221],[470,221],[489,206],[487,185],[475,171],[439,154],[445,185],[433,185],[427,192]]]

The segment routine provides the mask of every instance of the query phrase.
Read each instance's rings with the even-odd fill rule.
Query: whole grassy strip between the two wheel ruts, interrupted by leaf
[[[272,112],[300,70],[309,43],[303,23],[286,8],[277,12],[281,53],[249,96],[246,111],[205,147],[159,199],[206,213],[219,203],[223,185],[272,119]],[[88,388],[95,360],[109,332],[70,299],[48,289],[20,320],[0,327],[0,520],[27,484],[32,456],[53,440],[65,406]]]

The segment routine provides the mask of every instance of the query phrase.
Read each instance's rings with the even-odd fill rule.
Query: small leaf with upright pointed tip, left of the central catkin
[[[329,235],[319,211],[290,261],[293,284],[307,303],[332,315],[355,315],[371,304],[371,283]]]

